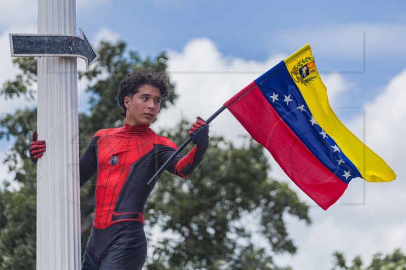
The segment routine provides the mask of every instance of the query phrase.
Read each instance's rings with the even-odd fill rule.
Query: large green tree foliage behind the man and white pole
[[[79,114],[81,153],[97,130],[123,124],[116,95],[127,73],[141,67],[166,70],[165,53],[142,59],[123,42],[101,42],[98,55],[95,66],[79,73],[79,78],[88,80],[86,91],[91,94],[89,111]],[[13,62],[21,73],[5,83],[2,97],[31,99],[36,91],[36,59]],[[161,110],[174,104],[174,88],[171,84],[171,95]],[[5,162],[20,185],[12,190],[5,182],[0,188],[0,268],[35,265],[36,166],[29,161],[28,147],[36,118],[36,108],[25,108],[0,119],[0,139],[12,144]],[[182,121],[162,135],[180,145],[189,127]],[[160,226],[176,239],[150,241],[155,249],[148,269],[277,269],[273,253],[296,251],[283,217],[293,215],[308,224],[310,219],[308,207],[285,183],[267,177],[269,169],[262,146],[252,139],[234,147],[221,137],[211,137],[205,159],[190,177],[164,173],[147,202],[146,225]],[[91,228],[94,180],[81,188],[82,252]],[[254,236],[263,239],[262,247],[254,243]]]

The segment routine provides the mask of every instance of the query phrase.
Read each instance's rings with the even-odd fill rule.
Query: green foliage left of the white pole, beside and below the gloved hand
[[[0,185],[0,269],[28,269],[36,259],[36,167],[26,156],[37,110],[21,109],[0,120],[0,138],[13,140],[5,164],[20,189]]]

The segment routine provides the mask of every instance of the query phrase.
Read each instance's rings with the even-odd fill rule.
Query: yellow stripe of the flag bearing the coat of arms
[[[313,118],[357,167],[362,178],[370,182],[395,179],[395,173],[385,161],[348,130],[332,111],[309,44],[284,61]]]

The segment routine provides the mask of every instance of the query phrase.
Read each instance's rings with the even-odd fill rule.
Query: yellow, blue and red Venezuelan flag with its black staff
[[[206,123],[225,108],[324,210],[343,195],[353,178],[370,182],[396,178],[385,161],[351,133],[332,111],[309,44],[225,102]],[[190,138],[173,157],[189,142]],[[148,184],[157,180],[168,163]]]

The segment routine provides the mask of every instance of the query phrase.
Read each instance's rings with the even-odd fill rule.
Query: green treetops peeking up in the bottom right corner
[[[396,249],[392,254],[384,256],[382,253],[374,255],[369,266],[362,268],[362,260],[360,256],[356,256],[352,260],[352,265],[346,263],[344,254],[334,252],[334,267],[333,270],[348,269],[348,270],[404,270],[406,269],[406,254],[403,254],[400,249]]]

